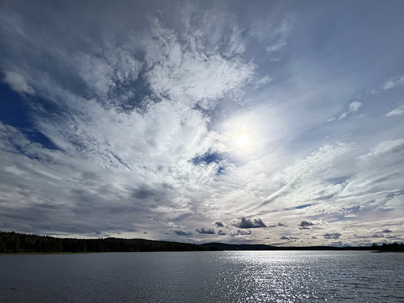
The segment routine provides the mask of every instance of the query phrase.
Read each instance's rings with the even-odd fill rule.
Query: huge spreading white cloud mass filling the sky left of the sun
[[[45,66],[38,63],[20,74],[7,72],[5,80],[17,91],[38,95],[31,100],[34,126],[58,150],[46,150],[17,129],[4,126],[4,152],[14,153],[15,165],[8,160],[3,174],[12,175],[10,182],[15,183],[2,196],[15,199],[11,191],[26,187],[31,199],[27,212],[37,208],[34,201],[41,200],[59,209],[56,216],[56,210],[41,213],[42,222],[48,222],[43,229],[55,224],[56,218],[69,221],[77,210],[82,209],[84,216],[94,208],[93,221],[71,220],[77,221],[76,230],[91,229],[91,225],[102,229],[107,222],[95,223],[98,216],[108,217],[109,228],[117,230],[132,230],[125,221],[150,226],[159,221],[161,226],[191,216],[191,205],[201,199],[198,192],[210,190],[219,164],[196,165],[192,159],[209,151],[221,154],[225,148],[219,134],[208,129],[206,111],[253,83],[256,66],[245,61],[241,51],[232,51],[231,58],[220,50],[207,54],[205,42],[195,32],[179,37],[158,21],[152,22],[149,30],[124,35],[119,45],[112,37],[104,37],[102,41],[86,38],[82,43],[88,47],[49,48],[40,42],[43,37],[35,45],[25,36],[16,37],[48,60]],[[143,52],[144,58],[136,52]],[[7,60],[30,65],[21,58],[25,57]],[[63,66],[63,79],[53,65]],[[19,173],[25,176],[20,181]],[[37,182],[31,181],[32,175],[40,176]],[[56,200],[60,205],[52,202]],[[14,211],[25,212],[18,205]],[[192,233],[184,226],[172,231]]]

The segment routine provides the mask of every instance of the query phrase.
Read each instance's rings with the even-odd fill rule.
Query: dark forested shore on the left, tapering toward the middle
[[[112,251],[205,251],[218,250],[199,244],[145,239],[76,239],[0,232],[0,254],[17,252],[112,252]]]

